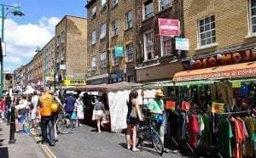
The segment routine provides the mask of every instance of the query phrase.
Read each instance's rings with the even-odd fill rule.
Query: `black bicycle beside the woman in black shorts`
[[[150,117],[146,118],[145,121],[142,121],[137,130],[137,147],[143,147],[144,141],[151,142],[154,145],[154,150],[156,150],[159,155],[163,155],[164,145],[160,139],[160,135],[156,132]]]

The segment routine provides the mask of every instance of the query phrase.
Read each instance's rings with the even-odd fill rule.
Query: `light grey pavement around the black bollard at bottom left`
[[[1,158],[44,158],[49,157],[34,138],[15,133],[15,144],[9,144],[9,126],[0,123],[0,157]]]

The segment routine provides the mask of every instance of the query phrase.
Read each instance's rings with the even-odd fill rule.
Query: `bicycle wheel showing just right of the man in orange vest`
[[[64,111],[61,111],[56,121],[56,130],[58,133],[67,134],[73,131],[73,121]]]

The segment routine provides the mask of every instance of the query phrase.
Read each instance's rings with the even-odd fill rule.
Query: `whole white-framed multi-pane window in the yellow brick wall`
[[[199,20],[199,46],[207,46],[216,42],[215,16],[211,15]]]

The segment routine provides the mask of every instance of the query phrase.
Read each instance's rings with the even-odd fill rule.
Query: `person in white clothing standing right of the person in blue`
[[[81,121],[84,119],[84,102],[83,102],[83,94],[80,93],[78,99],[75,103],[75,110],[77,112],[77,121],[76,121],[76,127],[81,127]]]

